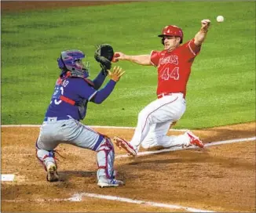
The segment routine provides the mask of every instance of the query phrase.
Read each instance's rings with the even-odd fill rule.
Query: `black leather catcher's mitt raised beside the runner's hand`
[[[105,74],[108,74],[107,70],[112,67],[112,59],[114,56],[114,50],[111,45],[103,44],[98,45],[94,54],[95,60],[101,64]]]

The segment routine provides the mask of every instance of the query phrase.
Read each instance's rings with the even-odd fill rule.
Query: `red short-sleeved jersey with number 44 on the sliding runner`
[[[182,92],[185,96],[191,66],[199,52],[200,47],[195,45],[194,39],[171,52],[151,52],[151,62],[158,70],[157,95]]]

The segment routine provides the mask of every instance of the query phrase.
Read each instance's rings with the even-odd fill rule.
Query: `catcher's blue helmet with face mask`
[[[60,58],[57,59],[58,66],[60,70],[79,72],[84,78],[87,78],[89,76],[90,63],[84,64],[82,62],[85,57],[85,54],[78,49],[65,50],[60,53]]]

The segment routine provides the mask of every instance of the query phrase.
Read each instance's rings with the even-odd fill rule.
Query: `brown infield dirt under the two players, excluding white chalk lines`
[[[132,129],[96,130],[126,139],[133,134]],[[2,128],[2,174],[16,175],[14,182],[2,182],[2,212],[181,211],[91,197],[82,197],[79,202],[64,200],[75,193],[112,195],[210,211],[256,211],[255,141],[117,158],[115,169],[126,186],[100,189],[96,154],[68,145],[58,147],[66,157],[59,158],[60,182],[46,182],[46,171],[35,157],[38,132],[39,128]],[[254,137],[255,122],[194,133],[205,143]],[[116,156],[124,153],[116,147],[115,152]]]

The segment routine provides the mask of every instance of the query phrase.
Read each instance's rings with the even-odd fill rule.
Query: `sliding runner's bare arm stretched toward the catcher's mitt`
[[[115,54],[119,55],[118,57],[116,57],[117,60],[128,60],[130,62],[144,66],[152,65],[150,55],[128,56],[123,52],[115,52]]]

